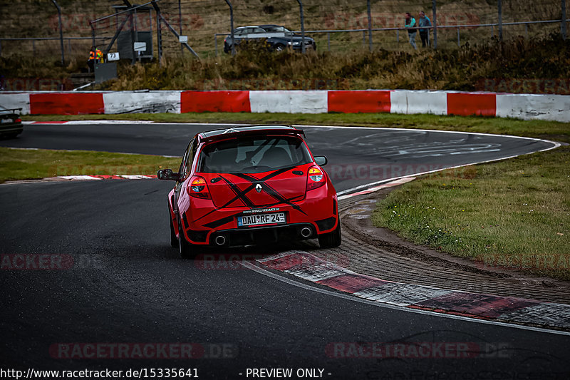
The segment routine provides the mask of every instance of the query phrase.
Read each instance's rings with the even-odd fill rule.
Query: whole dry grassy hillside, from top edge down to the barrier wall
[[[59,67],[59,41],[1,41],[0,76],[6,83],[19,78],[52,78],[66,81],[71,73],[85,70],[91,45],[89,20],[113,12],[120,1],[60,0],[66,41],[66,67]],[[162,13],[178,29],[178,1],[159,1]],[[561,41],[560,24],[504,26],[504,43],[497,41],[497,29],[473,27],[438,29],[437,51],[413,51],[403,31],[375,31],[373,53],[362,32],[326,34],[310,31],[362,29],[367,26],[366,1],[305,0],[305,29],[316,38],[317,52],[268,53],[255,43],[236,57],[214,56],[214,34],[229,31],[229,8],[224,0],[182,0],[182,31],[197,61],[190,53],[182,56],[180,44],[163,29],[165,49],[162,67],[156,62],[131,66],[122,61],[120,78],[98,88],[126,89],[361,89],[410,88],[466,91],[570,93],[569,39]],[[283,24],[300,29],[296,0],[234,0],[234,26]],[[403,12],[431,14],[432,1],[381,0],[371,2],[373,26],[395,27],[403,23]],[[438,24],[479,24],[497,21],[497,1],[437,1]],[[503,21],[549,20],[561,15],[559,0],[503,0]],[[567,1],[570,15],[570,1]],[[0,12],[13,17],[0,24],[0,36],[57,37],[56,7],[50,1],[13,1],[0,4]],[[140,12],[139,31],[156,28],[155,15]],[[110,38],[120,17],[96,24],[97,38]],[[494,33],[494,34],[493,34]],[[156,46],[156,33],[153,33]],[[98,40],[100,41],[100,40]],[[106,40],[108,41],[108,40]],[[417,40],[420,43],[418,36]],[[103,46],[103,43],[99,43]],[[218,37],[222,50],[223,37]],[[115,48],[112,49],[112,51]],[[34,55],[35,51],[35,55]],[[536,81],[536,80],[539,81]],[[49,84],[51,83],[51,84]],[[53,81],[47,87],[53,88]],[[57,82],[60,83],[60,82]],[[24,86],[24,85],[21,85]],[[51,86],[51,88],[49,87]],[[59,84],[57,84],[59,86]],[[10,88],[6,89],[26,89]],[[17,86],[16,86],[17,87]],[[58,87],[60,88],[60,87]]]

